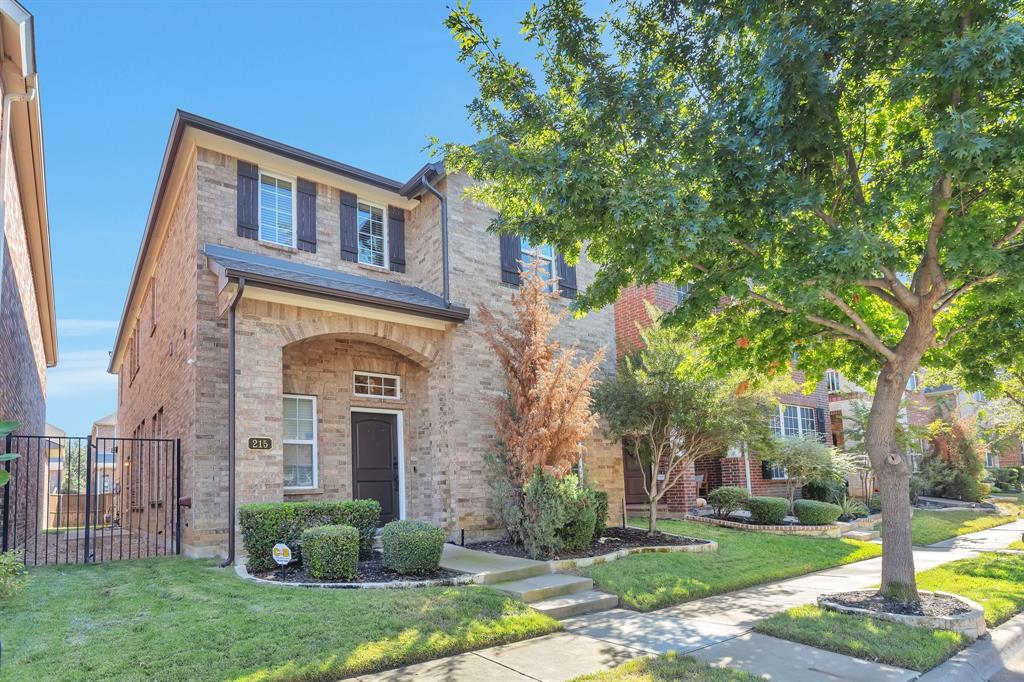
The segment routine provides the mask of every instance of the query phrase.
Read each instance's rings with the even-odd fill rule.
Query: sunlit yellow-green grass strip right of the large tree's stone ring
[[[918,573],[918,589],[951,592],[981,604],[989,628],[1024,610],[1024,556],[982,554]]]

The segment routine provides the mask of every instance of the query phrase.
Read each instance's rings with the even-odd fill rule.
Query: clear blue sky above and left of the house
[[[47,421],[84,435],[175,109],[396,179],[427,138],[470,140],[475,89],[445,2],[46,2],[36,17],[60,359]],[[474,2],[527,56],[528,2]]]

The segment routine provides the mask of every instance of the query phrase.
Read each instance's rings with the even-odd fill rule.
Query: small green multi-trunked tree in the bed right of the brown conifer
[[[678,328],[641,330],[644,347],[601,383],[595,402],[608,435],[622,438],[643,473],[647,531],[656,530],[657,503],[697,462],[720,458],[732,445],[770,442],[764,407],[767,387],[736,375],[717,376],[694,339]]]

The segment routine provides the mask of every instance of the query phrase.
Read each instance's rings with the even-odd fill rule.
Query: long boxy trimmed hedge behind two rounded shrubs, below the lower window
[[[249,555],[250,570],[272,570],[278,566],[270,551],[278,543],[302,558],[302,531],[317,525],[350,525],[359,534],[359,554],[373,553],[374,531],[381,506],[376,500],[345,502],[271,502],[239,507],[242,544]]]

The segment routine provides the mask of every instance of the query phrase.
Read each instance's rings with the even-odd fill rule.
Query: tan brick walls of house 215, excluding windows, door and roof
[[[264,160],[255,153],[247,159],[237,148],[229,154],[202,144],[185,146],[172,159],[181,180],[162,209],[166,231],[142,256],[152,261],[157,295],[151,303],[143,300],[134,319],[123,322],[132,331],[125,334],[124,347],[116,352],[122,435],[129,435],[134,424],[151,424],[144,420],[159,413],[163,434],[181,438],[182,496],[191,498],[191,506],[182,513],[182,544],[193,555],[224,553],[228,514],[225,311],[231,290],[210,269],[205,246],[225,246],[437,295],[441,291],[439,204],[432,196],[423,195],[418,202],[393,196],[393,205],[404,209],[407,260],[406,271],[394,272],[341,259],[341,191],[358,195],[358,186],[344,179],[337,184],[316,182],[315,252],[239,237],[240,159]],[[317,177],[310,173],[309,177]],[[350,415],[360,409],[389,410],[401,413],[406,515],[441,525],[453,537],[463,530],[469,538],[493,534],[483,454],[494,437],[494,402],[503,393],[503,377],[479,335],[477,311],[480,304],[507,309],[515,288],[501,284],[498,238],[487,231],[494,214],[463,198],[468,181],[459,176],[436,181],[449,197],[451,299],[469,309],[466,322],[420,324],[373,310],[340,311],[313,298],[269,300],[253,294],[253,287],[239,301],[234,337],[238,504],[349,499]],[[392,205],[392,200],[388,203]],[[581,289],[594,271],[592,264],[582,260],[578,267]],[[553,305],[565,308],[567,301],[557,299]],[[156,321],[152,332],[151,316]],[[141,334],[139,359],[133,367],[130,350],[136,334]],[[578,345],[585,353],[604,347],[605,369],[613,368],[610,307],[580,319],[566,318],[556,337],[565,347]],[[400,399],[355,396],[353,371],[397,375]],[[289,393],[316,397],[318,484],[313,489],[284,487],[282,398]],[[249,450],[250,437],[269,438],[270,450]],[[609,516],[618,518],[623,475],[617,445],[595,435],[587,443],[585,461],[593,479],[609,493]]]

